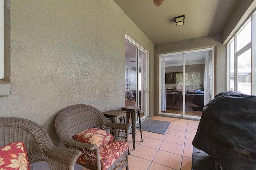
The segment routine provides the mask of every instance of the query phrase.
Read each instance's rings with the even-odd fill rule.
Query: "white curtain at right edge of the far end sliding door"
[[[212,51],[206,51],[204,68],[204,106],[212,98]]]

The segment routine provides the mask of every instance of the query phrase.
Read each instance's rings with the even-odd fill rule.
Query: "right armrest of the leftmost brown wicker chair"
[[[48,158],[58,160],[66,164],[74,164],[81,155],[81,151],[50,146],[45,150],[44,155]]]

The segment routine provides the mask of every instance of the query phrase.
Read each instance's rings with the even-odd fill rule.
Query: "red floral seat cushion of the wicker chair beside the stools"
[[[107,170],[116,160],[128,149],[128,143],[112,140],[99,149],[101,170]],[[88,159],[90,161],[90,159]],[[87,160],[87,161],[88,161]],[[80,164],[86,164],[84,152],[76,161]],[[93,164],[93,162],[87,162]]]

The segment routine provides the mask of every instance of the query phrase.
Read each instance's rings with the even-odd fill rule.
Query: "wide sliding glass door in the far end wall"
[[[160,114],[200,117],[212,99],[213,49],[160,55]]]

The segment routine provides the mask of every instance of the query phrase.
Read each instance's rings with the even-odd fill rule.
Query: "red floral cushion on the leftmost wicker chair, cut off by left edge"
[[[29,170],[28,154],[22,141],[0,147],[0,170]]]

